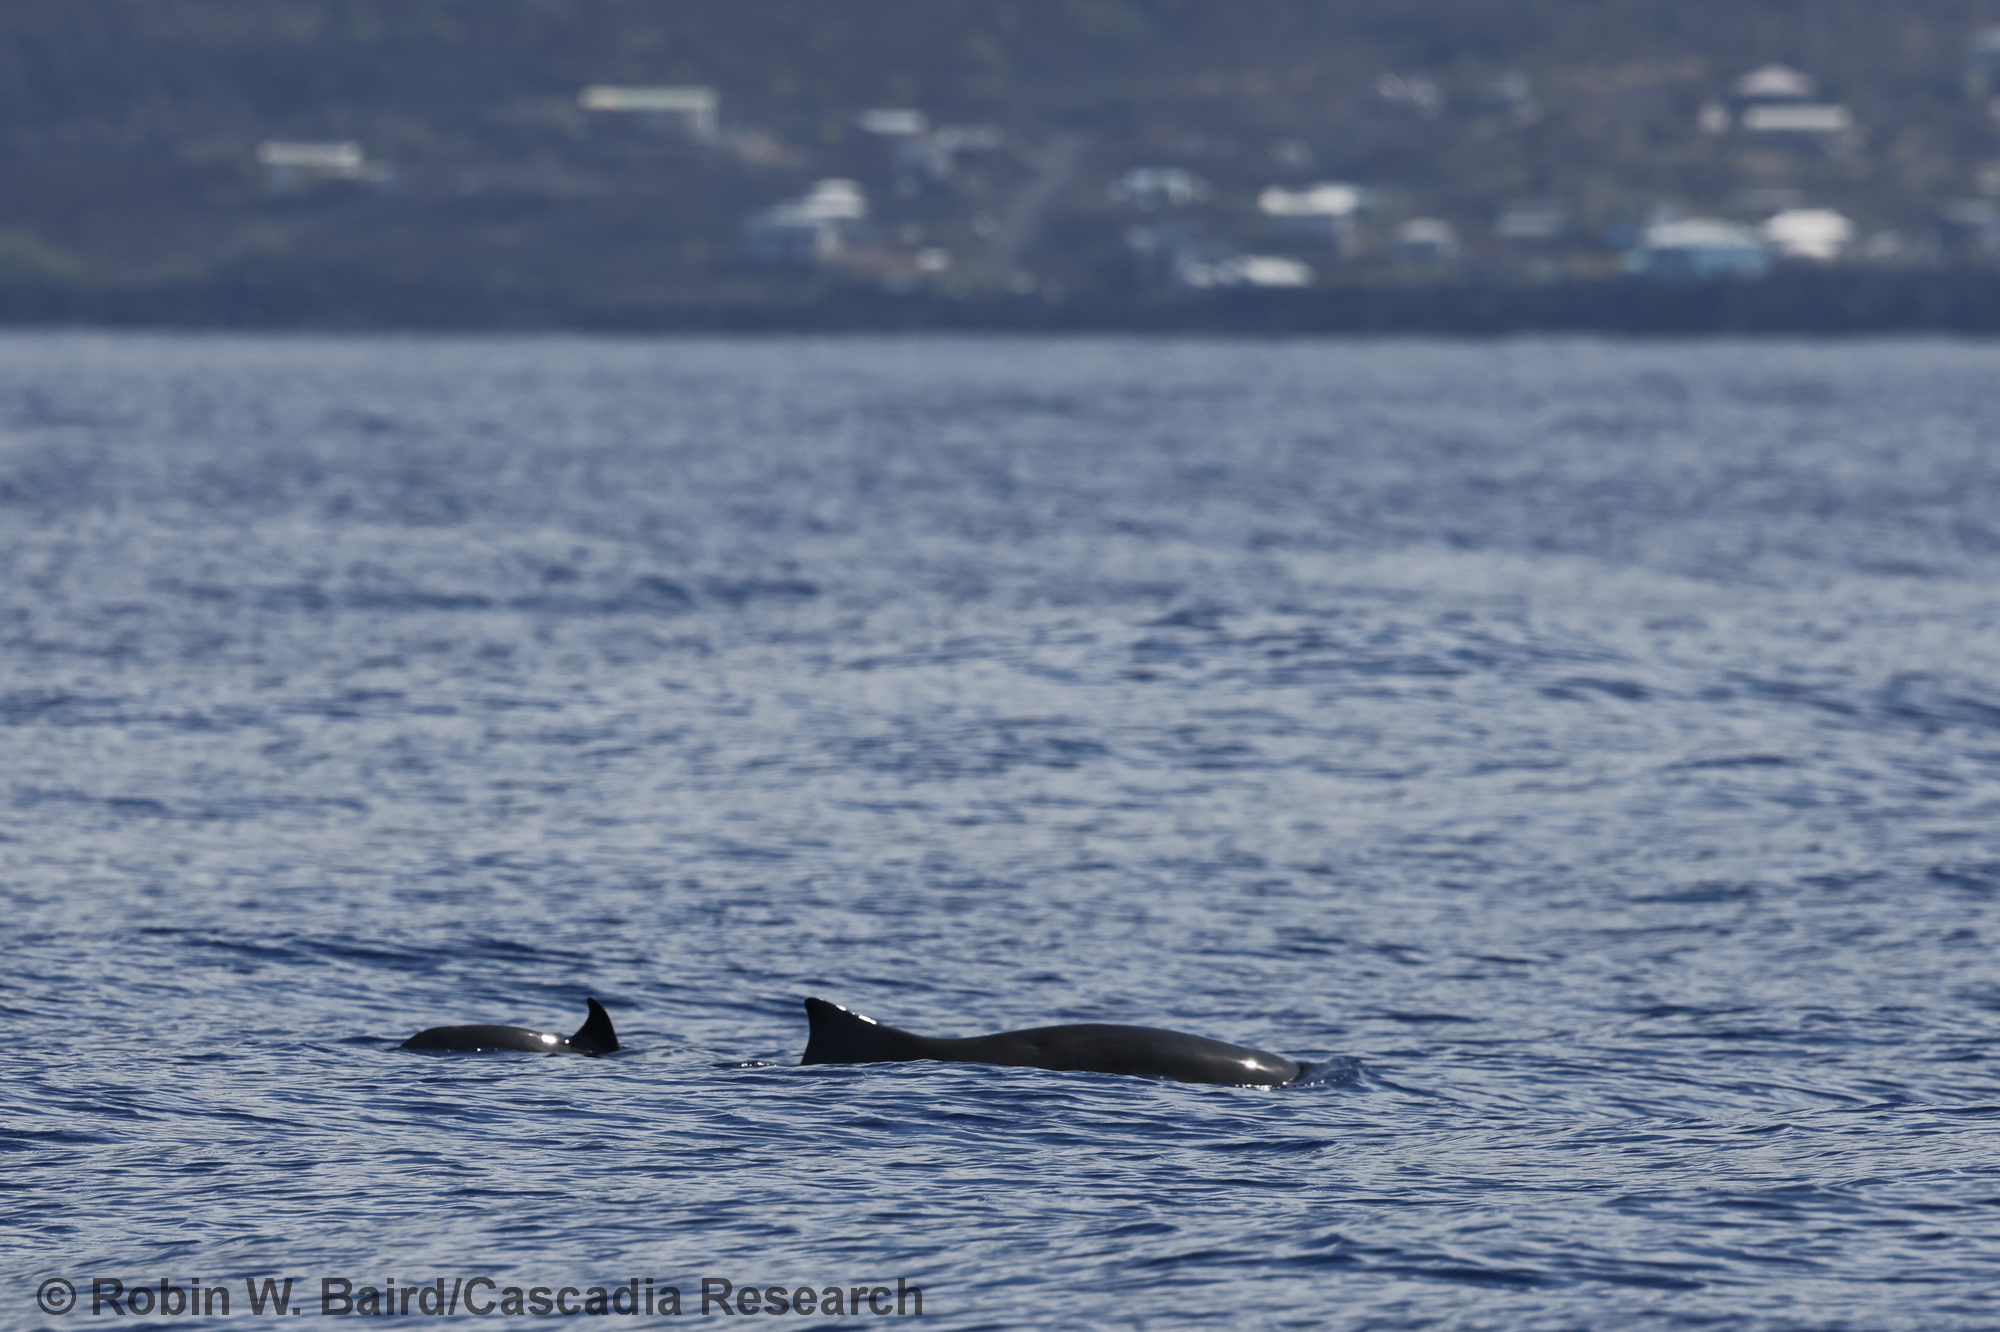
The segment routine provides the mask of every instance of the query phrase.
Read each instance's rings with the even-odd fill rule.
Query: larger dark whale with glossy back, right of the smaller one
[[[806,1000],[806,1056],[800,1064],[900,1064],[944,1060],[952,1064],[1008,1064],[1052,1068],[1056,1072],[1116,1072],[1174,1082],[1220,1082],[1228,1086],[1282,1086],[1294,1082],[1304,1064],[1278,1054],[1232,1046],[1226,1040],[1164,1032],[1156,1026],[1036,1026],[994,1036],[918,1036],[848,1012],[826,1000]]]

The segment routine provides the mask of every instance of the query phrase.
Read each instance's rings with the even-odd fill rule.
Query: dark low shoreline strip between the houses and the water
[[[0,326],[352,332],[1158,332],[1218,336],[1584,332],[1636,336],[2000,334],[1996,272],[1800,270],[1646,278],[1232,290],[1186,296],[944,298],[828,288],[788,302],[592,304],[560,292],[296,280],[0,284]]]

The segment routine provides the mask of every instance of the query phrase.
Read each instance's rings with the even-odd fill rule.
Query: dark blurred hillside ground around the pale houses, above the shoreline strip
[[[0,282],[1116,298],[1162,280],[1146,244],[1288,250],[1318,282],[1576,276],[1648,218],[1774,200],[1842,212],[1896,262],[1990,264],[1960,242],[2000,196],[2000,86],[1968,66],[1996,22],[2000,0],[10,0]],[[1768,62],[1856,130],[1702,130]],[[720,130],[588,112],[586,84],[710,86]],[[868,108],[990,138],[912,170]],[[372,168],[278,188],[274,140],[354,142]],[[1120,196],[1132,168],[1200,194]],[[824,178],[868,198],[844,254],[752,262],[746,220]],[[1370,200],[1338,240],[1258,210],[1326,180]],[[1510,200],[1560,208],[1560,244],[1496,240]],[[1410,218],[1462,238],[1448,266],[1396,258]]]

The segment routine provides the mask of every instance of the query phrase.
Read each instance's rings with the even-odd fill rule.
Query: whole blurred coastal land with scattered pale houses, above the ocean
[[[2000,330],[2000,0],[8,0],[0,320]]]

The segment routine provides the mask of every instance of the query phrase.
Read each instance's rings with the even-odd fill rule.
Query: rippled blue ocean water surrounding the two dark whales
[[[1992,1328],[2000,346],[6,334],[0,904],[4,1326]]]

